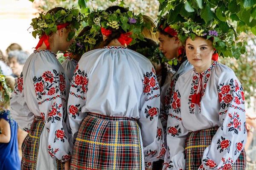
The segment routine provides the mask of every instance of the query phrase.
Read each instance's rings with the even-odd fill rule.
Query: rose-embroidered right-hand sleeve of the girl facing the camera
[[[232,78],[218,86],[221,127],[206,148],[199,170],[232,167],[247,138],[244,92],[238,79]]]

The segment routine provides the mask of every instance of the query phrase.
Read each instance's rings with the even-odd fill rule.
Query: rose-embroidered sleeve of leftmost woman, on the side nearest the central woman
[[[67,128],[63,126],[66,116],[66,80],[64,73],[44,71],[33,78],[38,107],[49,132],[48,152],[61,161],[70,159]]]

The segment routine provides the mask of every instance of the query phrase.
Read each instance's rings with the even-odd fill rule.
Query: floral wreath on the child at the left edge
[[[9,105],[11,93],[12,89],[8,87],[5,76],[0,71],[0,103],[3,103],[4,107]],[[0,111],[2,109],[4,108],[0,108]]]

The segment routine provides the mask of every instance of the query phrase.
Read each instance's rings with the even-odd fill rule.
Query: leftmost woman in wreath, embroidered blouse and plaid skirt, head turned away
[[[22,169],[63,169],[61,161],[70,159],[66,124],[70,84],[56,53],[66,51],[73,42],[82,18],[76,9],[56,7],[32,20],[40,41],[27,59],[11,99],[13,118],[29,132],[22,146]]]

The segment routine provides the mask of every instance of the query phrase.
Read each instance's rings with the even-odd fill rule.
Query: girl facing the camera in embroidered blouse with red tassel
[[[244,170],[244,92],[234,72],[212,60],[212,40],[202,36],[186,40],[194,68],[179,77],[172,95],[164,169]]]

